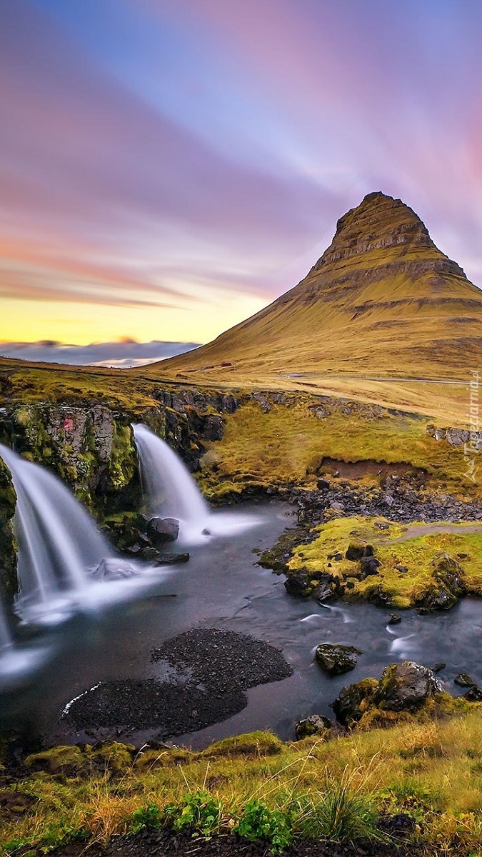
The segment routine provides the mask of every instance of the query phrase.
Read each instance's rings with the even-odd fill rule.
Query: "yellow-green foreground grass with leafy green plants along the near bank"
[[[214,745],[184,758],[176,749],[159,751],[150,766],[139,766],[142,754],[131,753],[115,773],[107,764],[104,772],[87,765],[55,776],[26,769],[15,781],[3,774],[1,853],[46,851],[72,839],[107,842],[158,824],[195,836],[237,829],[268,840],[275,851],[297,836],[383,838],[377,818],[399,812],[412,816],[413,842],[430,843],[431,853],[482,848],[477,704],[436,722],[407,722],[328,743],[282,744],[262,733],[237,741],[225,741],[224,752]],[[12,794],[16,811],[9,810]]]

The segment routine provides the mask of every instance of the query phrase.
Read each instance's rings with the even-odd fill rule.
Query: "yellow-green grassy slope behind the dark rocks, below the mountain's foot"
[[[407,470],[426,470],[431,488],[460,496],[482,494],[464,475],[463,447],[431,438],[425,430],[428,420],[389,412],[368,419],[355,409],[347,415],[342,403],[318,419],[309,410],[311,399],[298,396],[295,401],[274,405],[266,414],[257,405],[244,405],[226,415],[223,440],[209,444],[201,463],[207,494],[213,489],[239,492],[247,482],[314,488],[323,458],[405,463]]]

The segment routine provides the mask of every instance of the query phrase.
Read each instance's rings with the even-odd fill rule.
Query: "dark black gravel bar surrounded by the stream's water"
[[[247,705],[249,687],[292,674],[274,646],[214,628],[168,639],[151,657],[158,678],[101,681],[67,704],[64,722],[94,738],[150,728],[164,740],[226,720]]]

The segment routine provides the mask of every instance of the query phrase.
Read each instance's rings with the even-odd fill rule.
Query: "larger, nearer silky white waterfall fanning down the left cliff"
[[[1,444],[0,457],[17,495],[15,612],[22,619],[62,620],[80,604],[95,607],[106,597],[102,584],[113,596],[114,580],[122,583],[121,578],[140,571],[135,563],[113,555],[92,518],[57,476]],[[0,618],[0,628],[1,623]]]

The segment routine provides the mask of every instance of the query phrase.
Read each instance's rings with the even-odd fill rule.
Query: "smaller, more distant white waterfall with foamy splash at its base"
[[[142,423],[132,427],[147,511],[179,521],[179,541],[202,544],[210,536],[233,535],[256,524],[240,512],[210,512],[185,464],[164,440]]]

